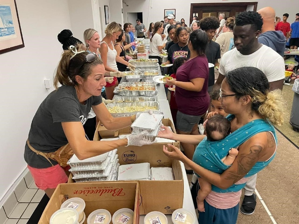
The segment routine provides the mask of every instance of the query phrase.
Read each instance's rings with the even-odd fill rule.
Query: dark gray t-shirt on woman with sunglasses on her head
[[[79,121],[85,124],[92,105],[102,103],[101,96],[91,96],[83,105],[79,102],[73,86],[61,86],[51,92],[37,109],[29,131],[30,145],[41,152],[55,152],[68,143],[61,122]],[[24,159],[34,168],[48,168],[51,163],[34,153],[25,144]],[[53,165],[57,162],[51,160]]]

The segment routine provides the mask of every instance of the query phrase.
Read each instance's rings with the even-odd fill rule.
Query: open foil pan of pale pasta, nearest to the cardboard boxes
[[[135,107],[135,108],[134,108]],[[127,117],[132,116],[138,112],[144,112],[152,109],[154,111],[160,110],[159,102],[128,102],[128,103],[109,103],[106,108],[113,117]]]

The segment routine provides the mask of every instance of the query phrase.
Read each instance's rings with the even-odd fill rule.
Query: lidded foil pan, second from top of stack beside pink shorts
[[[90,170],[73,170],[70,169],[71,173],[76,178],[83,177],[101,177],[101,176],[109,176],[111,172],[113,172],[113,165],[118,161],[118,155],[115,155],[114,159],[110,160],[110,163],[106,168],[103,169],[90,169]]]

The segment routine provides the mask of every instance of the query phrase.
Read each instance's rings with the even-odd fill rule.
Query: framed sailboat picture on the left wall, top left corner
[[[0,0],[0,54],[25,47],[16,0]]]

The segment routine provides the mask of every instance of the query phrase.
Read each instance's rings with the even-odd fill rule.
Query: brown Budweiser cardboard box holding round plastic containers
[[[49,224],[51,215],[60,209],[65,200],[72,197],[80,197],[86,203],[84,224],[87,224],[89,214],[100,208],[107,209],[111,217],[120,208],[130,208],[134,211],[133,223],[138,224],[139,195],[137,181],[60,184],[48,202],[38,224]]]

